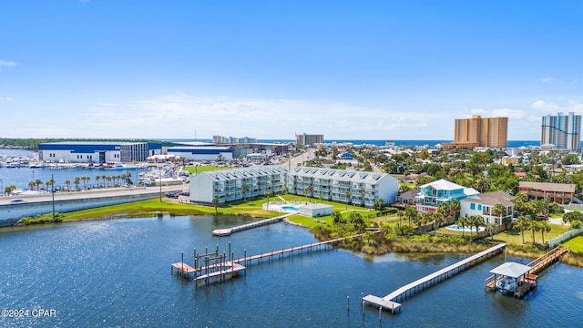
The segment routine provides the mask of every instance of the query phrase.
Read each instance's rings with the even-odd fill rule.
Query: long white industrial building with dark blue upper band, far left
[[[143,161],[148,158],[147,142],[47,142],[38,145],[41,160],[69,163]]]

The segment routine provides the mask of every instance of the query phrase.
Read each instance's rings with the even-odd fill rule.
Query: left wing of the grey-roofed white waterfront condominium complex
[[[190,201],[212,203],[217,199],[226,203],[263,196],[268,190],[282,192],[286,173],[287,169],[279,165],[201,172],[190,178]]]

